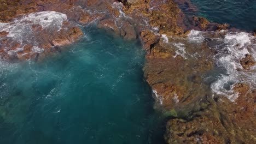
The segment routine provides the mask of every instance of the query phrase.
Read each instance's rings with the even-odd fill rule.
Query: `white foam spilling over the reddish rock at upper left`
[[[67,16],[56,11],[42,11],[31,13],[15,19],[10,23],[0,23],[1,31],[8,32],[7,37],[18,42],[22,46],[19,49],[8,51],[8,55],[15,55],[18,51],[23,50],[25,44],[33,45],[32,52],[40,53],[43,49],[38,47],[38,42],[34,34],[32,26],[40,25],[46,31],[59,31],[62,28],[63,21],[67,20]],[[25,43],[23,45],[23,43]],[[7,47],[7,49],[9,49]]]

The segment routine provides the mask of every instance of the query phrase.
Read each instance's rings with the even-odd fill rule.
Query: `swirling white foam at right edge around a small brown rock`
[[[231,101],[235,101],[238,97],[238,93],[234,92],[232,88],[236,83],[245,82],[256,88],[255,73],[251,73],[246,70],[242,70],[240,60],[245,57],[246,54],[254,56],[255,53],[249,52],[248,47],[254,47],[251,43],[251,35],[245,32],[228,33],[223,39],[223,47],[217,54],[216,61],[219,67],[226,69],[226,74],[221,75],[216,82],[211,85],[214,94],[225,95]],[[255,49],[255,47],[254,47]],[[240,69],[239,71],[237,69]],[[255,68],[252,68],[255,69]],[[230,89],[226,89],[226,86]]]

